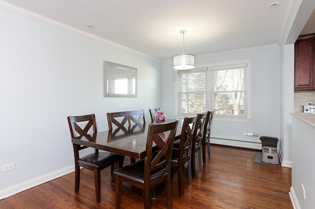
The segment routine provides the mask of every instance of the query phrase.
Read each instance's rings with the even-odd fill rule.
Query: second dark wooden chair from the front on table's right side
[[[172,167],[177,167],[177,181],[179,195],[184,195],[184,174],[183,167],[188,162],[188,179],[189,184],[192,182],[191,178],[191,152],[192,152],[192,141],[195,135],[195,124],[197,116],[185,117],[183,127],[178,143],[178,148],[173,148],[172,154]]]

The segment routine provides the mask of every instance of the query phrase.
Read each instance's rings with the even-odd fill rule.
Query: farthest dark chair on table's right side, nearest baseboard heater
[[[212,125],[212,118],[215,111],[208,111],[206,116],[205,127],[202,135],[202,158],[203,163],[206,163],[206,143],[208,145],[208,158],[210,159],[210,132]]]

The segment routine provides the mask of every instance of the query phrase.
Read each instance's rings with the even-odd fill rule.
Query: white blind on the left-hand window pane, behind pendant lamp
[[[178,75],[178,114],[208,111],[208,71],[207,68],[181,70]]]

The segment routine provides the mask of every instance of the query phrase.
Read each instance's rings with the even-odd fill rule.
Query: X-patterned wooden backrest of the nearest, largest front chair
[[[150,182],[150,172],[165,166],[169,174],[173,145],[178,120],[168,123],[150,124],[146,144],[146,157],[144,158],[144,180]],[[158,150],[152,155],[153,142]]]

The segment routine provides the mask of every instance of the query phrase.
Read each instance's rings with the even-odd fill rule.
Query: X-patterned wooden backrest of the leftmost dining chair
[[[68,124],[70,128],[71,137],[82,137],[93,131],[97,132],[95,114],[81,115],[81,116],[69,116]],[[80,126],[81,125],[81,126]],[[81,128],[83,127],[83,128]],[[77,136],[78,133],[78,136]]]

